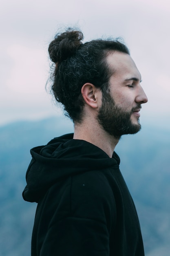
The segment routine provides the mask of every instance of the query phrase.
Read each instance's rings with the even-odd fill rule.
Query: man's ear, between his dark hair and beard
[[[82,86],[82,96],[84,101],[91,106],[91,108],[97,108],[98,107],[98,94],[99,89],[95,87],[92,83],[85,83]]]

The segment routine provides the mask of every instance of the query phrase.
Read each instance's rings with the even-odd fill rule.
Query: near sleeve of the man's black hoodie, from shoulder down
[[[107,180],[97,172],[85,173],[71,178],[66,190],[67,199],[62,196],[51,218],[40,256],[109,256],[116,210]]]

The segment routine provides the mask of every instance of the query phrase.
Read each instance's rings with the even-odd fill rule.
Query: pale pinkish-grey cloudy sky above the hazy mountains
[[[124,38],[148,97],[141,120],[170,127],[168,0],[1,0],[0,126],[62,115],[45,90],[48,46],[58,29],[73,26],[84,42]]]

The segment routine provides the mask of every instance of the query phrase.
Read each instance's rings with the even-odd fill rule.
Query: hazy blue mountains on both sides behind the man
[[[34,146],[73,132],[64,117],[0,127],[0,256],[30,256],[36,203],[25,202],[26,169]],[[115,150],[135,201],[146,256],[170,254],[170,132],[144,124],[123,136]]]

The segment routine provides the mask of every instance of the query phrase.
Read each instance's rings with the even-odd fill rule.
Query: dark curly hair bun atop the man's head
[[[49,55],[51,61],[60,63],[73,55],[82,44],[83,34],[68,28],[64,33],[57,34],[49,45]]]

